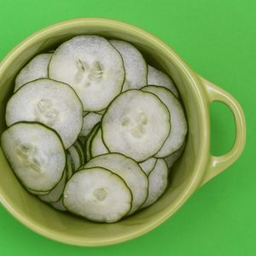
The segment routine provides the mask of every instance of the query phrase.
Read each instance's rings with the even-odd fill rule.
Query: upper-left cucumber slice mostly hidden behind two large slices
[[[27,84],[37,79],[48,78],[49,60],[52,54],[36,55],[29,61],[25,67],[20,70],[15,79],[15,91],[18,90],[23,84]]]

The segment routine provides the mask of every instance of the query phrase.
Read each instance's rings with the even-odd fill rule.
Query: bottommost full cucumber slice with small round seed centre
[[[131,201],[124,180],[100,167],[76,172],[67,182],[63,198],[70,212],[106,223],[124,217],[131,209]]]

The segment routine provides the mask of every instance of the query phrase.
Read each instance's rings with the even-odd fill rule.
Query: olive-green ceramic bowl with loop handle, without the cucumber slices
[[[49,26],[26,38],[0,66],[0,132],[5,129],[4,110],[14,89],[15,76],[34,55],[54,49],[79,34],[99,34],[135,44],[147,61],[168,73],[177,84],[189,122],[188,143],[172,170],[170,186],[152,207],[116,224],[96,224],[57,212],[20,186],[0,151],[0,201],[22,224],[56,241],[96,247],[142,236],[170,218],[203,183],[224,171],[241,154],[245,144],[245,119],[238,102],[229,93],[202,79],[166,44],[135,26],[105,19],[68,20]],[[209,105],[223,102],[234,114],[236,139],[229,153],[210,154]],[[172,230],[170,230],[172,232]]]

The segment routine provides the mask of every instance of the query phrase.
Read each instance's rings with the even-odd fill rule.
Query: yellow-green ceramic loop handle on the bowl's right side
[[[230,152],[221,156],[210,154],[207,171],[201,182],[202,186],[212,177],[231,166],[241,155],[246,142],[246,121],[241,105],[230,93],[207,81],[207,79],[199,78],[207,91],[208,104],[210,105],[212,102],[224,103],[232,111],[236,123],[236,137],[233,147]]]

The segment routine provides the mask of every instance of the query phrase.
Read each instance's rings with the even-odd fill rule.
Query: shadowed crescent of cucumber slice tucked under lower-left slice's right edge
[[[65,185],[67,182],[67,167],[65,172],[61,177],[61,181],[52,189],[47,195],[38,195],[38,197],[45,202],[56,202],[61,199],[61,195],[64,191]]]

